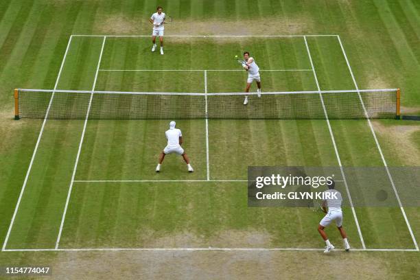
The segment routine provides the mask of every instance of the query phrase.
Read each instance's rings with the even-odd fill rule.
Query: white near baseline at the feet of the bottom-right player
[[[5,252],[85,252],[85,251],[318,251],[322,252],[324,248],[224,248],[224,247],[196,247],[196,248],[45,248],[45,249],[6,249]],[[335,249],[334,251],[343,252],[344,249]],[[334,254],[333,251],[333,254]],[[355,252],[416,252],[415,249],[404,248],[372,248],[362,249],[354,248],[350,250]]]

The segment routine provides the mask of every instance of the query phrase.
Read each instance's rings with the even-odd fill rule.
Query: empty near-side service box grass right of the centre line
[[[325,121],[210,120],[209,143],[218,180],[246,179],[248,165],[336,165]]]

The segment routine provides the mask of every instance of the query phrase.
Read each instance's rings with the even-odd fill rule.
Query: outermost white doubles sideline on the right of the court
[[[349,62],[349,59],[347,58],[347,54],[346,54],[345,49],[344,49],[344,47],[343,47],[343,45],[342,45],[342,42],[341,42],[340,36],[337,36],[337,38],[338,38],[338,43],[340,43],[340,47],[341,47],[341,50],[342,50],[342,54],[343,54],[343,55],[344,55],[344,57],[345,57],[345,60],[346,60],[346,63],[347,63],[347,67],[349,68],[349,71],[350,71],[350,74],[351,74],[351,78],[353,79],[353,84],[354,84],[354,86],[355,86],[355,89],[356,89],[357,91],[359,91],[359,86],[358,86],[358,84],[357,84],[357,83],[356,83],[356,81],[355,81],[355,78],[354,78],[354,75],[353,75],[353,71],[351,70],[351,67],[350,67],[350,62]],[[411,238],[412,238],[412,242],[415,244],[415,248],[416,248],[416,250],[419,250],[419,245],[417,244],[416,237],[415,237],[414,233],[412,232],[412,229],[411,229],[411,226],[410,226],[410,222],[408,222],[408,218],[407,218],[407,215],[406,215],[406,211],[404,211],[404,207],[403,207],[403,205],[402,205],[402,203],[401,203],[401,200],[399,199],[399,195],[398,195],[397,189],[395,188],[395,184],[394,184],[393,177],[391,176],[391,174],[390,174],[390,172],[389,172],[388,165],[386,164],[386,160],[385,160],[384,154],[382,153],[382,148],[381,148],[381,146],[380,146],[379,141],[377,141],[377,137],[376,137],[375,130],[373,129],[373,126],[372,126],[372,123],[371,123],[371,119],[369,118],[369,115],[368,115],[368,113],[367,113],[367,111],[366,111],[366,108],[365,108],[365,106],[364,106],[364,102],[363,102],[363,100],[362,100],[362,96],[360,96],[360,92],[358,92],[358,95],[359,95],[360,102],[362,103],[362,108],[363,108],[363,110],[364,110],[364,115],[366,116],[367,122],[368,122],[368,124],[369,124],[369,128],[371,128],[371,132],[372,132],[372,135],[373,135],[373,139],[375,139],[375,143],[376,143],[377,150],[380,152],[380,156],[381,156],[382,162],[384,163],[384,167],[385,167],[385,170],[386,170],[386,174],[388,174],[388,178],[389,178],[390,183],[391,183],[391,185],[392,185],[392,187],[393,187],[395,197],[397,198],[398,205],[399,205],[399,209],[401,209],[401,213],[402,213],[402,215],[404,216],[404,220],[406,220],[406,224],[407,224],[407,227],[408,227],[408,231],[410,231],[410,235],[411,235]]]

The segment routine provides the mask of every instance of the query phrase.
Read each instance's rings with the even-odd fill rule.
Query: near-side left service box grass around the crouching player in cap
[[[78,180],[205,180],[205,121],[176,120],[183,131],[183,148],[196,172],[183,159],[168,155],[160,174],[154,172],[167,143],[170,120],[89,121],[80,154]],[[86,152],[85,152],[86,151]]]

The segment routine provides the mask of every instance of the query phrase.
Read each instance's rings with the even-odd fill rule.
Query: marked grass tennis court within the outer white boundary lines
[[[165,44],[159,56],[148,36],[73,35],[54,90],[242,92],[246,73],[226,59],[238,50],[259,63],[263,91],[358,89],[336,35],[168,36]],[[419,250],[404,208],[351,207],[355,190],[340,167],[386,163],[366,119],[175,119],[195,172],[168,156],[156,174],[167,119],[87,116],[43,120],[3,250],[321,248],[321,216],[246,206],[253,165],[337,167],[353,248]],[[389,179],[384,188],[397,200]]]

